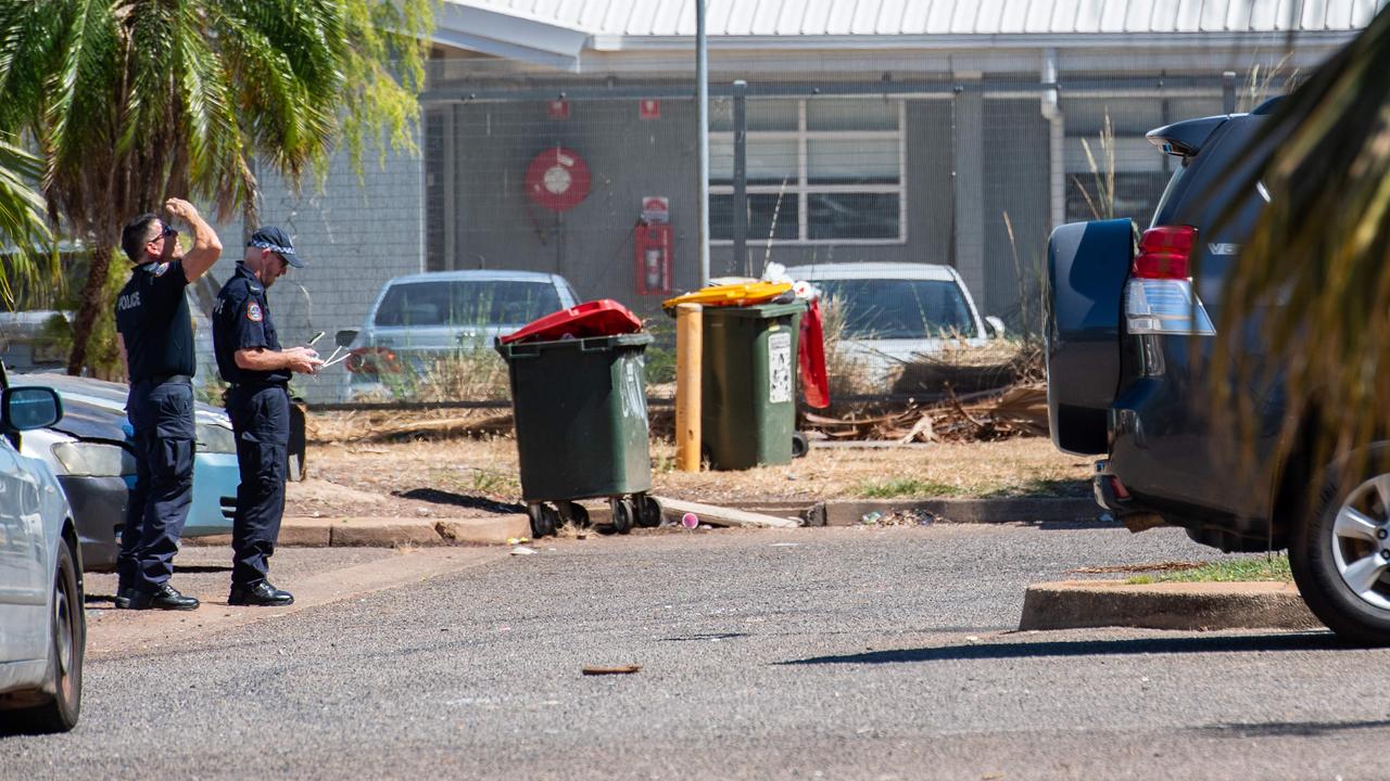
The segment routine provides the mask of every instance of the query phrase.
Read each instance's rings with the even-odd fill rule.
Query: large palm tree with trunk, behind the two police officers
[[[253,156],[297,182],[339,140],[359,167],[368,139],[409,146],[431,24],[431,0],[0,4],[0,131],[38,139],[49,208],[90,252],[68,371],[124,220],[183,193],[254,210]]]

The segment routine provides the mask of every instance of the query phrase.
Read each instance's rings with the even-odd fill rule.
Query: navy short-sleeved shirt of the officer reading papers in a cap
[[[285,385],[289,370],[252,371],[236,365],[236,350],[279,349],[275,324],[270,320],[265,286],[246,268],[236,264],[236,274],[222,285],[213,307],[213,352],[217,372],[225,382],[247,385]]]

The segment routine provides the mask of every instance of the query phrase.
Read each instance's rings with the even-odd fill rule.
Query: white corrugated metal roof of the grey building
[[[695,35],[696,0],[446,0],[595,36]],[[708,0],[710,36],[1337,32],[1390,0]]]

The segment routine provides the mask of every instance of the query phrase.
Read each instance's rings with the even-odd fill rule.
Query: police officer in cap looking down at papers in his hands
[[[289,267],[303,268],[289,236],[275,227],[252,233],[236,272],[222,285],[213,310],[217,371],[229,384],[227,414],[236,434],[236,488],[232,518],[232,591],[228,605],[291,605],[295,598],[267,579],[270,557],[285,511],[289,445],[289,375],[311,374],[322,361],[310,347],[282,350],[265,290]]]

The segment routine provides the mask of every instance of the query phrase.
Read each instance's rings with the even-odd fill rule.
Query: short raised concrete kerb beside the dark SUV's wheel
[[[1019,630],[1316,630],[1298,589],[1283,582],[1061,581],[1033,584]]]

